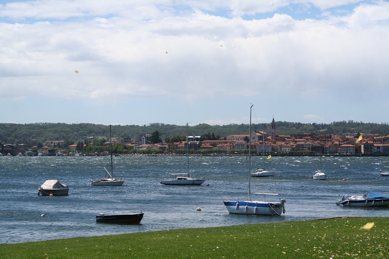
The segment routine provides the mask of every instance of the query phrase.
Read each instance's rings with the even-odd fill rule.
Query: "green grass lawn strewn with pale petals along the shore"
[[[0,258],[376,259],[389,258],[388,231],[386,217],[286,221],[0,244]]]

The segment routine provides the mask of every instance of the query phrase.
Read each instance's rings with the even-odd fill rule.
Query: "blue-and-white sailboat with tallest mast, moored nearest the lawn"
[[[253,106],[253,105],[252,105]],[[251,110],[250,107],[250,147],[251,147]],[[251,194],[259,194],[266,197],[266,195],[279,195],[267,193],[252,193],[251,192],[251,148],[249,149],[249,198],[246,201],[229,200],[228,197],[223,197],[224,206],[230,214],[245,214],[245,215],[272,215],[280,216],[285,213],[285,199],[280,199],[279,202],[252,200]]]

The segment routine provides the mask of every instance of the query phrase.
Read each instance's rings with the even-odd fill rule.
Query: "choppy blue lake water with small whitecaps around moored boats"
[[[262,159],[252,157],[252,169],[262,167]],[[110,170],[110,157],[0,157],[0,243],[335,216],[389,216],[389,208],[335,204],[343,194],[389,194],[389,176],[379,173],[389,166],[389,157],[322,157],[327,180],[318,181],[311,176],[320,169],[320,157],[273,156],[266,160],[266,169],[275,169],[276,176],[252,177],[252,192],[279,193],[267,199],[286,199],[284,216],[230,215],[224,207],[222,196],[247,199],[246,156],[191,156],[193,175],[206,177],[201,186],[160,184],[172,178],[170,173],[186,172],[186,156],[121,156],[113,161],[114,176],[125,178],[121,187],[91,186],[91,179],[105,177],[103,167]],[[67,184],[69,196],[38,196],[38,187],[48,179]],[[202,211],[196,211],[197,207]],[[145,213],[141,224],[95,221],[99,213],[138,209]]]

